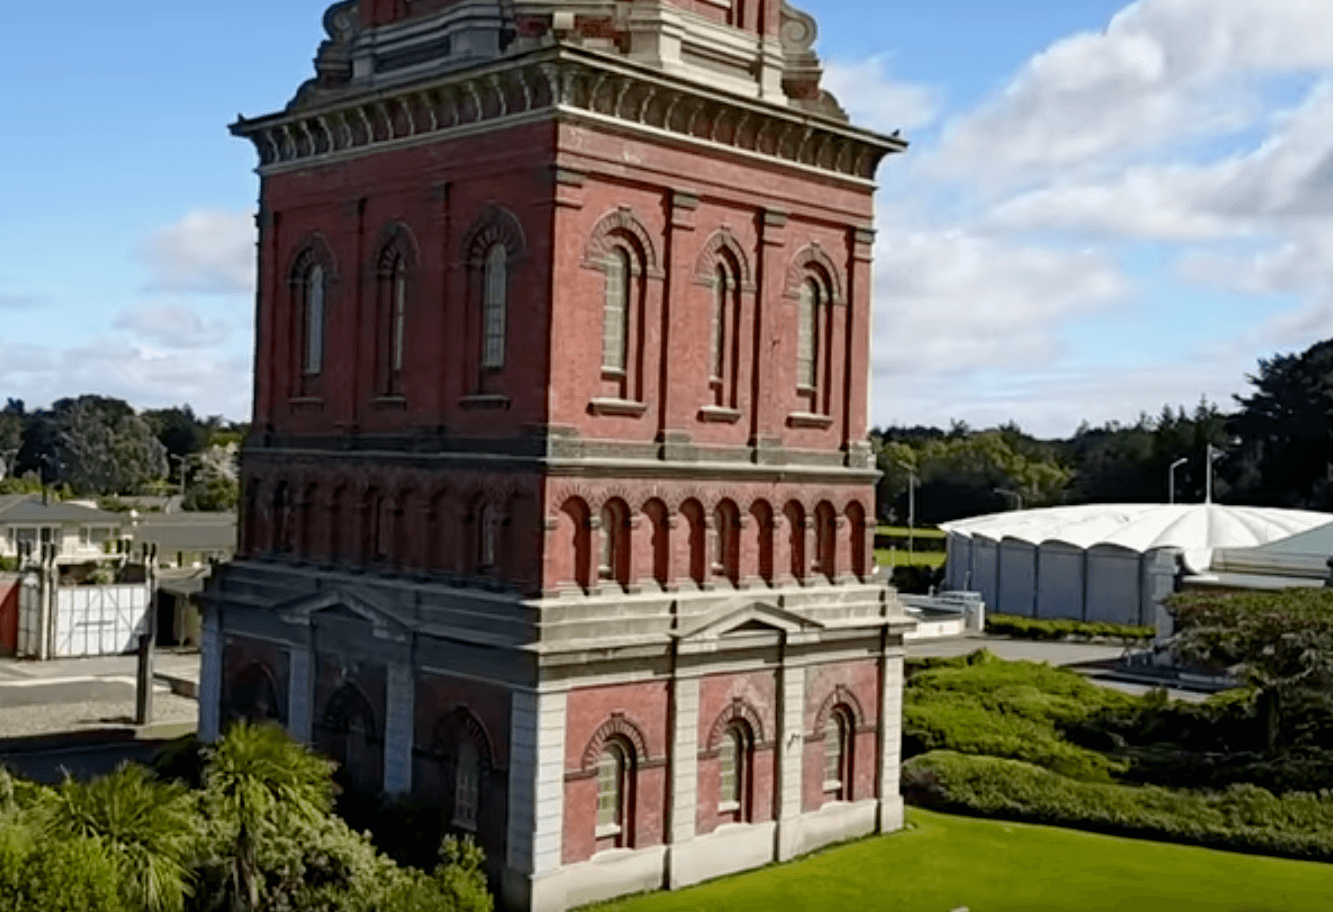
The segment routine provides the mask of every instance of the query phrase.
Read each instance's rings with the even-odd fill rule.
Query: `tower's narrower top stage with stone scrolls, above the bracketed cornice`
[[[846,120],[820,87],[814,19],[782,0],[343,0],[289,109],[564,44]]]

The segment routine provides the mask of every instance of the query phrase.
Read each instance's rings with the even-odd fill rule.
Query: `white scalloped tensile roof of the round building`
[[[1076,548],[1108,544],[1137,551],[1180,548],[1185,567],[1206,572],[1218,548],[1253,548],[1333,523],[1333,513],[1226,504],[1082,504],[942,523],[949,535],[1017,539]]]

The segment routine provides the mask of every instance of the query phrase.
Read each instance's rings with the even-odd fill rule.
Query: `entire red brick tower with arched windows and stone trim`
[[[563,909],[901,820],[873,176],[778,0],[360,0],[260,155],[201,731],[269,716]]]

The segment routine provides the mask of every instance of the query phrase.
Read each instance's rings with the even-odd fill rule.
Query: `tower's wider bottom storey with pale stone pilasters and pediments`
[[[910,627],[877,583],[524,597],[236,561],[201,733],[275,719],[437,804],[503,908],[560,911],[901,827]]]

